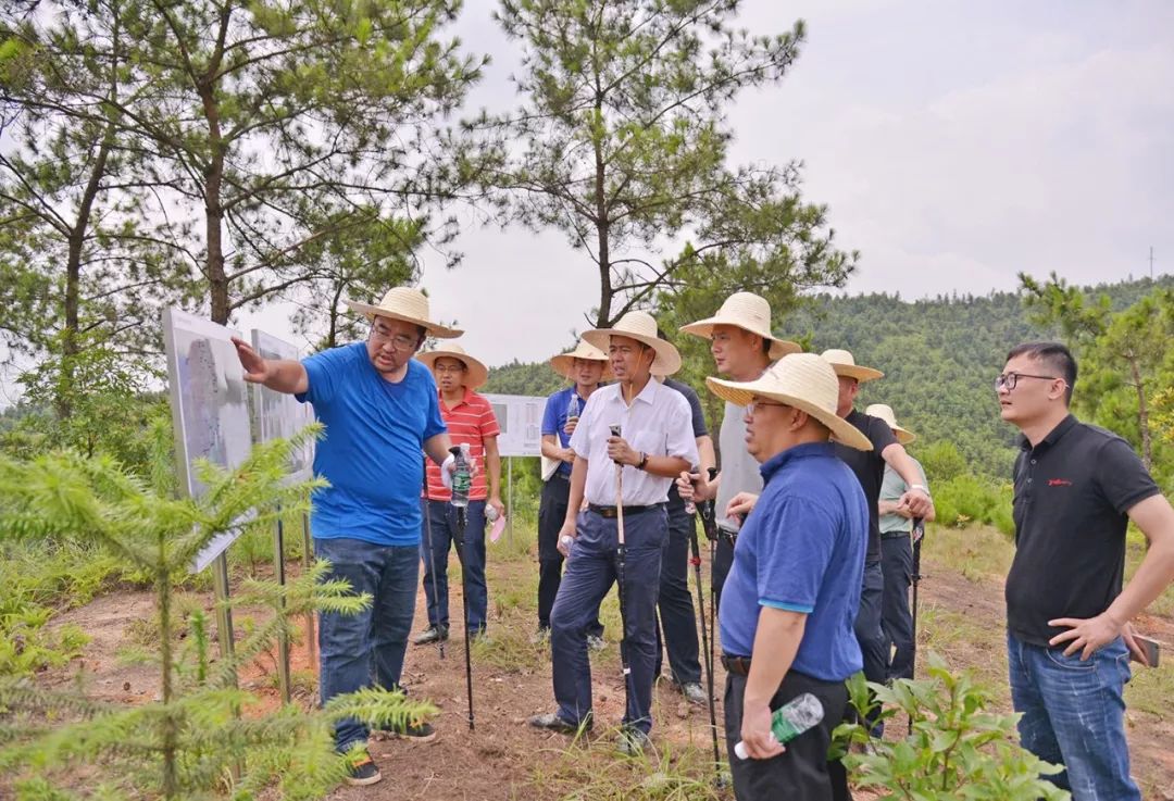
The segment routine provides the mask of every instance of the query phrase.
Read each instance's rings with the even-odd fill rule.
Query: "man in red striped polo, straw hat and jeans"
[[[468,491],[465,527],[465,592],[468,593],[468,619],[465,631],[477,637],[485,632],[488,591],[485,585],[486,504],[504,514],[501,457],[498,453],[498,419],[490,402],[474,392],[488,378],[484,364],[457,344],[443,350],[420,354],[417,358],[432,369],[440,393],[440,416],[448,428],[453,445],[468,445],[470,456],[485,470],[477,471]],[[448,548],[456,539],[457,509],[452,492],[440,480],[440,471],[429,464],[424,489],[424,527],[420,557],[424,560],[424,595],[429,606],[429,627],[413,642],[424,645],[448,639]],[[431,530],[429,526],[431,521]]]

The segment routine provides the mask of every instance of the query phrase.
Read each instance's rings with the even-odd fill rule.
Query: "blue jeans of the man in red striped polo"
[[[426,506],[425,506],[426,504]],[[457,541],[457,507],[447,500],[421,500],[424,523],[420,533],[420,559],[424,560],[424,598],[429,605],[429,624],[448,625],[448,547]],[[429,532],[429,521],[432,531]],[[429,553],[429,548],[432,553]],[[485,631],[490,603],[485,585],[485,502],[470,500],[465,521],[465,592],[468,598],[466,630]],[[433,574],[433,568],[436,573]]]

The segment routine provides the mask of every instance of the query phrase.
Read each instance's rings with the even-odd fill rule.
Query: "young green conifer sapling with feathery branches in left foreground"
[[[313,436],[309,431],[302,436]],[[291,620],[312,610],[355,613],[371,603],[345,581],[325,580],[318,563],[285,586],[245,581],[234,604],[268,606],[231,658],[212,662],[202,613],[189,621],[194,637],[182,645],[175,585],[193,558],[247,516],[264,523],[284,509],[304,507],[312,484],[285,485],[292,442],[252,450],[228,472],[202,465],[208,487],[198,499],[174,499],[166,429],[156,437],[155,486],[107,457],[52,453],[31,462],[0,457],[0,532],[28,539],[89,540],[150,577],[157,598],[160,699],[142,706],[93,702],[74,691],[50,692],[27,679],[0,679],[0,775],[13,776],[18,799],[67,799],[69,772],[87,769],[90,797],[252,799],[322,797],[345,773],[332,728],[344,718],[373,727],[423,720],[436,708],[403,693],[366,689],[331,699],[325,708],[288,706],[271,714],[236,687],[239,668],[272,647]],[[75,776],[74,776],[75,778]],[[62,786],[56,786],[62,785]]]

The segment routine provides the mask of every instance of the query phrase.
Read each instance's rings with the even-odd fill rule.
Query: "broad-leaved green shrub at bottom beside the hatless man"
[[[836,728],[834,755],[843,756],[857,787],[879,790],[880,801],[1071,797],[1043,778],[1062,767],[1019,745],[1018,714],[987,712],[989,693],[966,675],[951,673],[936,654],[929,657],[929,674],[918,681],[899,679],[891,687],[866,682],[859,673],[849,680],[851,704],[862,718],[880,704],[880,719],[890,727],[903,728],[905,718],[913,723],[900,740],[871,739],[861,723]],[[868,743],[866,753],[845,754],[849,743]]]

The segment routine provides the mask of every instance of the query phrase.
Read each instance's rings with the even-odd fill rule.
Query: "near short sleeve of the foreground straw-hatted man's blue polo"
[[[802,498],[787,498],[762,520],[758,604],[810,614],[836,544],[828,513]]]

